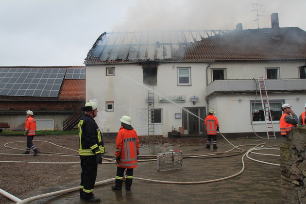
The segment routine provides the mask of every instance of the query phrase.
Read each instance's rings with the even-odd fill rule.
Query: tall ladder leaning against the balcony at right
[[[266,121],[266,128],[267,128],[267,137],[268,139],[276,139],[274,128],[273,128],[273,121],[271,116],[271,109],[266,89],[266,84],[263,76],[258,76],[258,84],[260,90],[260,97],[261,97],[261,104],[264,111],[265,121]]]

